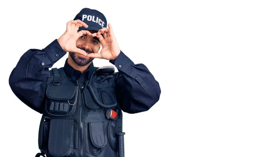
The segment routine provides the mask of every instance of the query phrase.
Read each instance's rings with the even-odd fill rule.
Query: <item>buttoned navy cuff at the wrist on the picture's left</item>
[[[53,63],[58,61],[61,57],[63,57],[67,53],[62,49],[57,39],[52,41],[51,44],[49,44],[47,47],[45,47],[42,50],[44,50],[47,53],[47,55],[49,56],[49,58],[52,60]]]

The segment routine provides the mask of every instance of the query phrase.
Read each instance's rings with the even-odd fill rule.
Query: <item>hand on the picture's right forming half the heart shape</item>
[[[104,38],[101,34],[103,34]],[[114,60],[117,58],[120,53],[120,48],[110,23],[108,23],[108,28],[104,27],[99,29],[97,33],[93,33],[91,36],[99,38],[99,41],[102,44],[102,50],[100,53],[87,54],[87,57],[103,58],[107,60]]]

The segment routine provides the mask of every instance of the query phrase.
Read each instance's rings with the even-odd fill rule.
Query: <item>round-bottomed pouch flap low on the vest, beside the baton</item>
[[[104,122],[89,122],[90,140],[97,148],[105,147],[107,137]]]

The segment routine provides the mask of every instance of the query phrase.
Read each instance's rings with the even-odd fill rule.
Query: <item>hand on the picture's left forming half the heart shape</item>
[[[62,49],[66,52],[75,52],[82,55],[87,55],[87,53],[76,47],[76,40],[82,35],[91,35],[91,32],[87,30],[81,30],[79,32],[79,27],[84,26],[88,28],[88,25],[81,20],[70,20],[67,22],[67,29],[60,38],[57,39],[58,43],[61,45]]]

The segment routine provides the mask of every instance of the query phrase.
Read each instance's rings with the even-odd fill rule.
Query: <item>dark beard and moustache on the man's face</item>
[[[90,51],[90,49],[84,49],[83,47],[77,47],[77,48],[82,49],[87,53],[93,53],[92,51]],[[79,53],[75,53],[75,52],[69,52],[69,54],[70,54],[70,57],[73,59],[73,61],[79,66],[87,65],[94,59],[91,57],[83,58],[83,57],[79,56]]]

